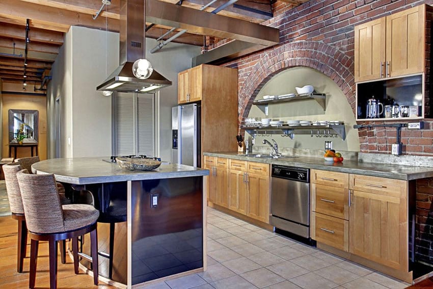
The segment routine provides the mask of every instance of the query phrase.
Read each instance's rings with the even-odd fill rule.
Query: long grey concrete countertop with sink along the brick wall
[[[260,157],[249,157],[237,152],[205,152],[204,155],[220,156],[228,159],[266,163],[273,165],[284,165],[317,169],[359,175],[386,177],[402,180],[412,180],[426,177],[433,177],[433,168],[405,166],[382,163],[367,163],[359,161],[343,161],[342,163],[328,163],[322,157],[295,156],[286,159],[262,159]]]

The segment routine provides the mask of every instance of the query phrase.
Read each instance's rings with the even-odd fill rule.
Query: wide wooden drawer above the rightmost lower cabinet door
[[[350,174],[350,189],[400,198],[407,192],[407,181]]]

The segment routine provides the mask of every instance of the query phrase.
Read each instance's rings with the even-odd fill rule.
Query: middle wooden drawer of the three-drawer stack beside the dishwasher
[[[312,211],[349,219],[349,190],[334,188],[316,183],[311,184],[311,208]]]

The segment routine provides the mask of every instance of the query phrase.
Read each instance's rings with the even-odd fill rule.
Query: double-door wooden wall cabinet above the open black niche
[[[424,72],[426,5],[355,27],[355,82]]]

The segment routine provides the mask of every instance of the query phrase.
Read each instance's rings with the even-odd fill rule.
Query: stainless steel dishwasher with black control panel
[[[310,169],[272,165],[271,224],[310,238]]]

